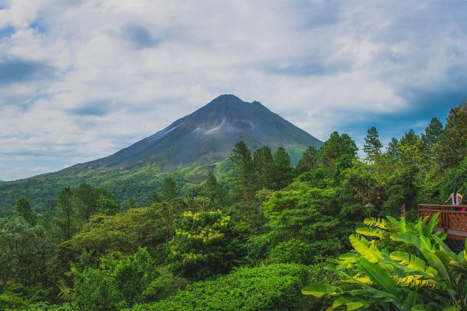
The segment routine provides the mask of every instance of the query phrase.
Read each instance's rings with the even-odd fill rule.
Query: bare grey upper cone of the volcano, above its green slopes
[[[282,146],[292,153],[323,144],[259,102],[246,103],[236,96],[223,95],[128,148],[70,169],[156,162],[168,170],[179,165],[208,164],[227,158],[239,140],[252,150]]]

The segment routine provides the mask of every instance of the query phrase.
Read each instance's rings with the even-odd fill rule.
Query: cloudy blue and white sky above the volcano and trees
[[[130,146],[225,93],[359,154],[467,100],[467,1],[0,0],[0,180]]]

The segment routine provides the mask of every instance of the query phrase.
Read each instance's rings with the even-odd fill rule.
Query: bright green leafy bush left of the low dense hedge
[[[84,310],[110,311],[128,308],[135,303],[157,301],[172,294],[186,282],[154,266],[146,249],[134,255],[101,257],[99,268],[72,265],[73,290],[61,289],[62,296]]]

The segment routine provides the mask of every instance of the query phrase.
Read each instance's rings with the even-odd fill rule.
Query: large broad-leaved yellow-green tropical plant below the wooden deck
[[[467,250],[455,254],[443,243],[447,234],[433,232],[439,215],[428,224],[429,216],[416,224],[367,218],[369,227],[350,236],[353,252],[325,267],[341,275],[343,285],[318,283],[303,293],[336,297],[329,310],[465,310]]]

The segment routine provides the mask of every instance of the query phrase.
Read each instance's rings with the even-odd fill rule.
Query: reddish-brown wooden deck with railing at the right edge
[[[466,208],[466,211],[457,211]],[[419,217],[433,217],[440,212],[436,231],[447,233],[448,238],[464,241],[467,238],[467,205],[418,204]]]

